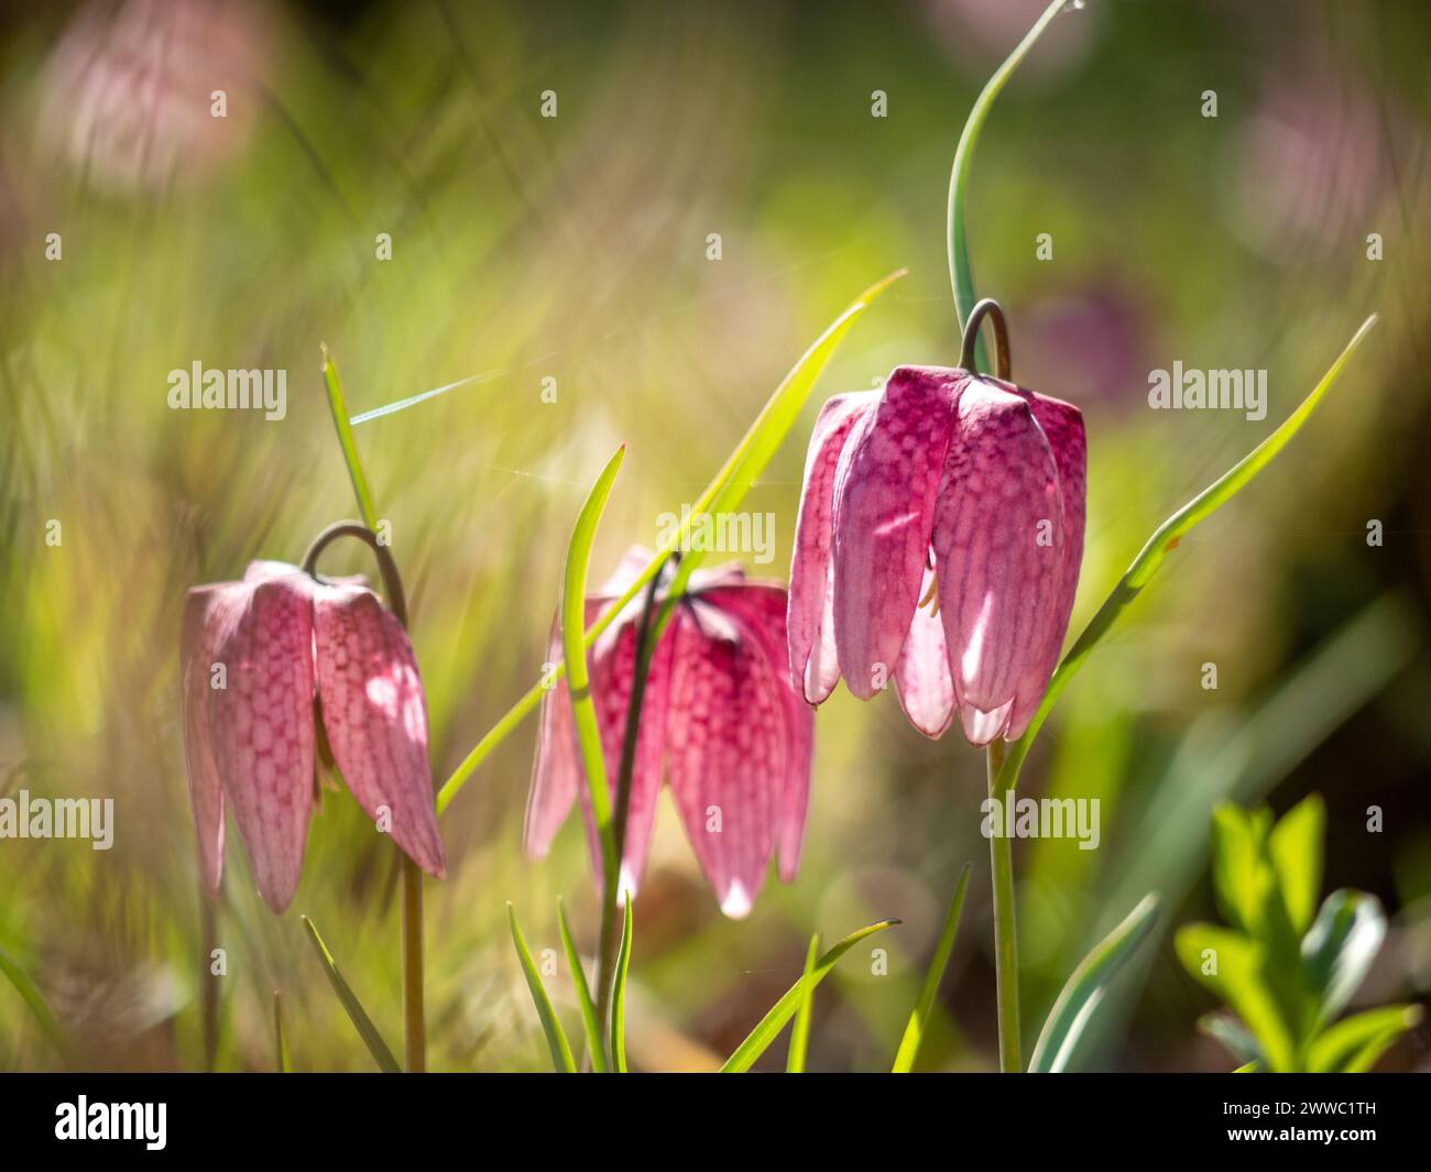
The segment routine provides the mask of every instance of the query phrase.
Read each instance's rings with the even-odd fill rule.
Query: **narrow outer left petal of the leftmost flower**
[[[238,584],[196,587],[183,608],[179,671],[183,693],[183,748],[189,773],[189,807],[199,847],[199,873],[213,894],[223,877],[223,786],[209,738],[209,694],[213,691],[215,638],[222,624],[248,602]]]

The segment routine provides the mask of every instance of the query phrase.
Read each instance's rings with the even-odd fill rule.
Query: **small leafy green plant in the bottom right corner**
[[[1392,1005],[1338,1020],[1387,934],[1379,902],[1322,883],[1327,810],[1312,794],[1275,826],[1272,811],[1225,804],[1212,816],[1212,884],[1229,927],[1186,924],[1178,957],[1231,1013],[1202,1029],[1242,1072],[1369,1070],[1421,1019]]]

